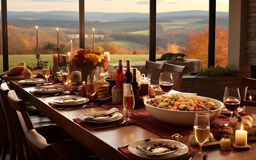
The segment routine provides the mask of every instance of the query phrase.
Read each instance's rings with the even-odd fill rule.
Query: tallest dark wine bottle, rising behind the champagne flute
[[[130,92],[132,82],[132,72],[130,71],[130,59],[126,60],[126,72],[124,74],[124,93]]]

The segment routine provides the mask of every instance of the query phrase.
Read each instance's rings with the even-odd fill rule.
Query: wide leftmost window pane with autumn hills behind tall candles
[[[21,7],[22,6],[22,7]],[[8,0],[9,68],[20,62],[36,66],[36,25],[40,60],[52,65],[56,53],[59,29],[60,54],[79,48],[79,1],[78,0]]]

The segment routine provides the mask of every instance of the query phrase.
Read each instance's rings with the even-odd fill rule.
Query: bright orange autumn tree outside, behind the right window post
[[[183,50],[189,58],[202,59],[204,68],[208,66],[208,34],[209,29],[203,31],[190,31],[188,44]],[[228,30],[225,27],[216,26],[215,37],[215,64],[227,65]]]

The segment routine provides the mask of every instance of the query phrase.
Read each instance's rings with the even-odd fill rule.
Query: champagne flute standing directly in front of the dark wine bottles
[[[124,109],[126,111],[128,111],[128,121],[130,121],[130,117],[131,117],[131,111],[134,108],[134,94],[133,94],[133,89],[132,89],[132,85],[130,85],[126,92],[124,92],[124,97],[123,97],[123,105],[124,105]]]

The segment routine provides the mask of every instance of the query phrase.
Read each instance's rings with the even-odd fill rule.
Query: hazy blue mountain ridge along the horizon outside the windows
[[[170,17],[202,17],[208,16],[209,11],[174,11],[174,12],[163,12],[157,13],[157,18],[164,19]],[[79,20],[78,11],[45,11],[45,12],[32,12],[32,11],[8,11],[7,16],[9,20],[20,20],[20,19],[43,19],[43,20]],[[228,17],[228,12],[216,12],[216,17],[225,18]],[[104,13],[104,12],[85,12],[85,20],[87,21],[126,21],[128,19],[141,19],[149,18],[149,13]]]

